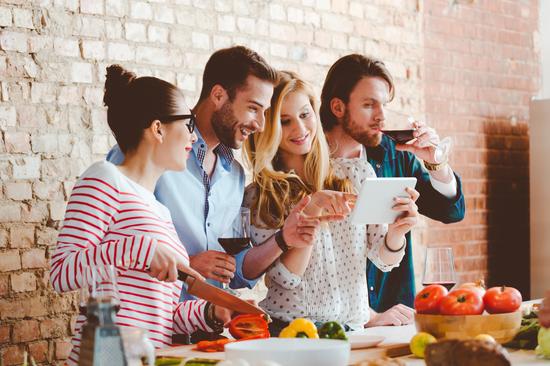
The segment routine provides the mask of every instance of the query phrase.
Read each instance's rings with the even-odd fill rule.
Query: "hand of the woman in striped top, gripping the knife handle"
[[[178,270],[204,281],[204,277],[186,264],[181,254],[166,244],[159,243],[149,266],[149,274],[159,281],[174,282],[178,279]]]

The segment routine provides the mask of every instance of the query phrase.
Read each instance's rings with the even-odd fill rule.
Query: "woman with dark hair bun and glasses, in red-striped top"
[[[118,325],[146,329],[157,348],[171,345],[173,333],[221,331],[229,310],[204,300],[179,302],[177,271],[202,277],[189,268],[170,213],[153,194],[165,171],[186,168],[197,138],[183,94],[163,80],[136,78],[113,65],[107,68],[104,102],[126,159],[120,166],[97,162],[76,183],[51,259],[53,287],[76,290],[83,268],[114,265]],[[85,321],[84,315],[77,318],[69,364],[78,363]]]

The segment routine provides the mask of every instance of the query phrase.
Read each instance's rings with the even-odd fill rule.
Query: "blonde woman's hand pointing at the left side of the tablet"
[[[329,215],[348,215],[357,201],[357,195],[351,193],[322,190],[311,195],[311,201],[304,212],[311,216],[323,213]]]

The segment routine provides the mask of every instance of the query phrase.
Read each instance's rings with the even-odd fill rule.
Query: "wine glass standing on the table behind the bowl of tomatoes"
[[[453,248],[428,247],[422,285],[438,284],[450,291],[456,282]]]

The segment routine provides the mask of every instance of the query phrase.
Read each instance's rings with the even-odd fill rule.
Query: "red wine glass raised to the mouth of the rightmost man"
[[[414,140],[413,123],[416,119],[403,112],[394,110],[386,110],[386,120],[390,121],[392,129],[384,129],[382,133],[388,135],[389,138],[398,144],[405,144]],[[444,162],[451,152],[452,140],[450,137],[445,137],[439,141],[427,141],[428,145],[435,148],[434,159],[436,163]]]

